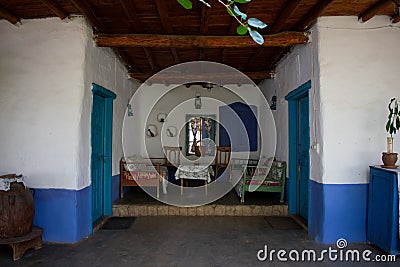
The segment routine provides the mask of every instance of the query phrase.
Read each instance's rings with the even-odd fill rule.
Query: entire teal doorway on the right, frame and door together
[[[285,99],[289,102],[289,214],[308,221],[310,190],[310,104],[311,81]]]

